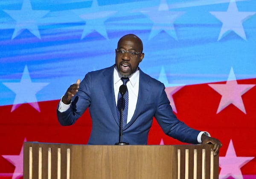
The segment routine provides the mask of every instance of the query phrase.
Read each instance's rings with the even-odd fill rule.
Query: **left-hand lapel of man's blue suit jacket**
[[[115,94],[114,94],[114,88],[113,88],[113,70],[114,70],[114,65],[103,72],[102,90],[104,92],[104,96],[106,100],[108,101],[108,106],[111,110],[113,118],[115,119],[116,123],[119,125],[119,118],[116,110],[116,101],[115,101]]]

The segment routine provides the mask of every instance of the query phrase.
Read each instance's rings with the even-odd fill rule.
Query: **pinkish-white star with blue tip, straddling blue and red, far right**
[[[250,90],[255,84],[237,84],[236,76],[233,71],[233,67],[230,69],[226,84],[208,84],[215,91],[222,95],[220,104],[218,106],[217,113],[221,112],[228,105],[233,104],[239,110],[246,114],[242,95]]]

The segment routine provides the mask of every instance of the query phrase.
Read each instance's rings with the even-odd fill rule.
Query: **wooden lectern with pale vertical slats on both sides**
[[[218,179],[212,147],[24,142],[23,178]]]

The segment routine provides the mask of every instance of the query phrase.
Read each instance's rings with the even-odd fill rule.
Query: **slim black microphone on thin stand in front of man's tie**
[[[119,119],[120,123],[119,123],[119,142],[116,143],[116,145],[129,145],[129,143],[127,142],[123,142],[122,141],[122,113],[123,113],[123,104],[124,104],[124,94],[125,92],[127,91],[127,87],[122,84],[120,87],[119,87],[119,92],[120,94],[122,95],[121,97],[121,103],[122,103],[122,107],[121,107],[121,112],[120,112],[120,116],[121,118]]]

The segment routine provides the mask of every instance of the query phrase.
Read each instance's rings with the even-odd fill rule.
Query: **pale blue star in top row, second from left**
[[[90,9],[74,10],[74,12],[86,22],[81,39],[94,30],[108,39],[108,34],[104,23],[109,16],[115,14],[117,11],[105,11],[99,7],[97,0],[93,0],[93,4]]]

